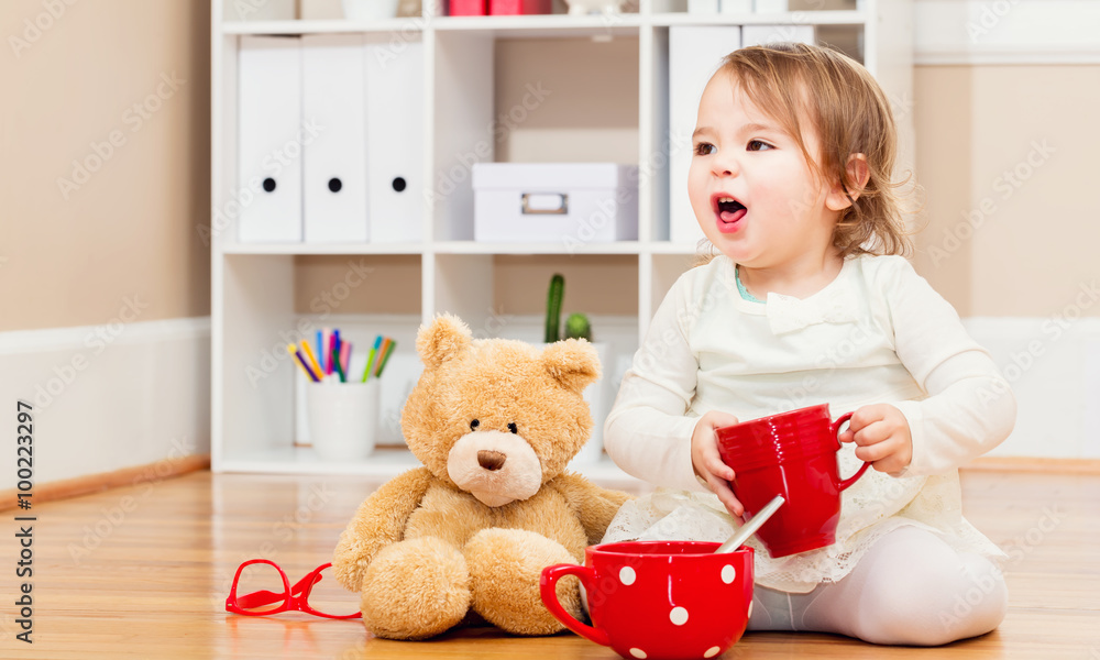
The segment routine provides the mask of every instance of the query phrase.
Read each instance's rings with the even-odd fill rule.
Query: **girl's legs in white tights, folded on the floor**
[[[749,630],[836,632],[886,645],[938,646],[989,632],[1008,608],[1000,570],[934,534],[902,527],[845,578],[807,594],[756,586]]]

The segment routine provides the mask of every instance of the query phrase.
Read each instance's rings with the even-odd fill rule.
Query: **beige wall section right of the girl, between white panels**
[[[925,66],[915,87],[919,270],[964,316],[1079,305],[1100,279],[1100,66]]]

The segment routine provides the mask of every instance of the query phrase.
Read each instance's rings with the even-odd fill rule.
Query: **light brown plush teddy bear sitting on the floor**
[[[377,637],[482,620],[517,635],[562,630],[539,595],[542,569],[583,563],[630,498],[565,472],[592,430],[582,392],[600,376],[595,349],[473,339],[448,315],[420,328],[416,348],[424,372],[402,430],[422,466],[360,505],[332,558],[337,580],[360,595]],[[574,616],[579,591],[559,582]]]

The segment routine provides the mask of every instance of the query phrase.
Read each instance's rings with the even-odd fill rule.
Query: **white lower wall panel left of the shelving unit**
[[[35,483],[210,451],[210,319],[0,332],[0,416],[16,485],[16,402],[33,415]]]

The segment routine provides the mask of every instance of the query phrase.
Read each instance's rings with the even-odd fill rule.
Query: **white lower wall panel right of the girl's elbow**
[[[965,319],[1016,396],[994,457],[1100,458],[1100,318]]]

